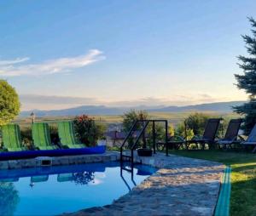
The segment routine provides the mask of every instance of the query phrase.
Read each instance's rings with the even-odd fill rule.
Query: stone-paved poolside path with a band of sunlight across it
[[[138,162],[160,168],[113,204],[91,207],[81,215],[212,215],[224,165],[182,156],[136,156]]]

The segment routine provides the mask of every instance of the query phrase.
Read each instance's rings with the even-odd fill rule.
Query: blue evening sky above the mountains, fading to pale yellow
[[[0,78],[21,109],[245,100],[255,0],[3,0]]]

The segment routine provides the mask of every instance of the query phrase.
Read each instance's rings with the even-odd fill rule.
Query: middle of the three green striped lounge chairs
[[[34,147],[38,150],[58,149],[57,146],[51,144],[48,123],[33,123],[32,139]]]

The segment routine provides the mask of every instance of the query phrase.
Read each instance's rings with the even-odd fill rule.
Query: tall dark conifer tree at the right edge
[[[248,57],[238,56],[239,67],[243,74],[235,74],[237,88],[245,90],[249,101],[244,105],[235,106],[234,110],[244,115],[243,129],[245,134],[249,134],[256,122],[256,21],[248,18],[252,26],[253,36],[242,36],[246,43]]]

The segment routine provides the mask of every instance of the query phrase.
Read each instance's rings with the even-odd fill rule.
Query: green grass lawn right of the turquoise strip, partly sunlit
[[[256,215],[256,155],[231,151],[170,151],[170,153],[230,165],[232,168],[230,215]]]

